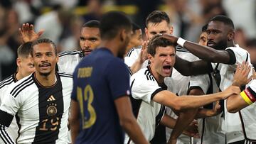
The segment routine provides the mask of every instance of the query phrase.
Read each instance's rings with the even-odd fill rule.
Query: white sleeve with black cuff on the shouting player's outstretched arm
[[[150,104],[151,99],[153,99],[158,92],[163,90],[154,80],[146,79],[145,75],[137,75],[132,81],[131,87],[132,97],[134,97],[134,99],[142,99],[148,104]]]

